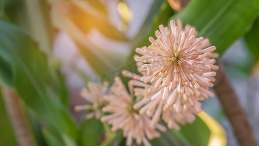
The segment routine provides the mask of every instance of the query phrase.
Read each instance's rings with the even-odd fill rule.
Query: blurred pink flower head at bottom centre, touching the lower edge
[[[160,133],[155,129],[165,131],[166,128],[159,124],[151,124],[151,119],[146,115],[140,115],[138,110],[133,109],[134,96],[128,93],[119,77],[115,78],[111,91],[111,95],[104,97],[108,105],[103,108],[104,112],[110,114],[103,116],[101,121],[111,124],[112,131],[123,130],[123,136],[127,137],[127,146],[132,145],[133,139],[136,139],[137,144],[143,143],[145,146],[151,146],[147,138],[152,140],[159,137]]]

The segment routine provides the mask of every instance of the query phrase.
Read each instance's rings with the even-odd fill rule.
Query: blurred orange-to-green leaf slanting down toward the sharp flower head
[[[74,39],[81,54],[86,58],[95,73],[97,73],[103,80],[113,81],[112,76],[116,74],[113,72],[117,71],[121,65],[124,64],[124,61],[122,60],[125,60],[124,58],[128,56],[126,49],[125,52],[117,52],[97,47],[88,40],[89,36],[86,36],[85,33],[80,31],[68,18],[59,18],[56,16],[54,18],[54,23]]]

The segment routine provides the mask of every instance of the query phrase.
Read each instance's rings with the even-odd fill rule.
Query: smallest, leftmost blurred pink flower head
[[[101,110],[106,104],[104,100],[104,95],[109,94],[108,83],[104,82],[101,86],[99,83],[87,83],[87,88],[83,88],[80,95],[87,101],[85,105],[75,106],[76,111],[90,110],[91,112],[86,114],[86,119],[91,119],[95,117],[99,119],[101,117]]]

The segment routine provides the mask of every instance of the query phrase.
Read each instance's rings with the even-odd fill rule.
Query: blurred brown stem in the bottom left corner
[[[2,97],[19,146],[36,146],[16,91],[2,87]]]

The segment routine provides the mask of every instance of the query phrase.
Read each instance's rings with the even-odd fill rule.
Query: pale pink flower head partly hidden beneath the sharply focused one
[[[158,89],[154,88],[152,84],[146,84],[141,82],[141,76],[128,71],[122,71],[122,75],[133,78],[130,84],[134,86],[134,94],[139,99],[138,102],[133,106],[135,110],[139,110],[140,114],[145,114],[148,117],[152,117],[151,123],[157,124],[162,115],[162,120],[168,123],[168,128],[175,128],[179,130],[178,123],[184,125],[186,123],[192,123],[195,120],[194,114],[198,114],[201,111],[201,104],[195,100],[196,105],[190,105],[190,103],[185,103],[185,107],[181,104],[180,109],[177,106],[168,104],[166,101],[162,100],[163,87]],[[179,98],[173,91],[169,91],[170,96],[174,98]],[[197,108],[195,108],[197,107]]]

